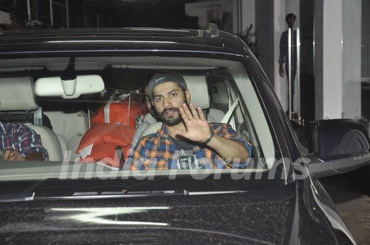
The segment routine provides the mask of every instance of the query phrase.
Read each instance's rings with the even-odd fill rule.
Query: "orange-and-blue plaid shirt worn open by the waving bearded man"
[[[239,137],[229,124],[210,124],[214,134],[220,137],[235,139],[241,141],[252,155],[252,145]],[[134,150],[128,156],[124,170],[167,170],[178,169],[177,162],[179,156],[176,154],[175,143],[167,134],[164,125],[156,133],[146,135],[141,138]],[[230,169],[232,166],[224,161],[215,151],[204,146],[194,146],[193,154],[199,162],[202,169]],[[238,164],[238,168],[243,168],[249,164],[247,162]]]

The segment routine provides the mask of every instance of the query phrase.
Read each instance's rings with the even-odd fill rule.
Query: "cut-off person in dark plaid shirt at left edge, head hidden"
[[[47,150],[41,145],[40,135],[22,124],[6,124],[0,121],[0,148],[3,159],[9,161],[49,159]]]

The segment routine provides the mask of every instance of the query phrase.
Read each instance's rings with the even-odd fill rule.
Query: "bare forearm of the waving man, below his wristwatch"
[[[215,150],[218,155],[230,163],[234,161],[234,158],[239,159],[239,162],[246,162],[249,158],[248,149],[238,140],[214,135],[207,146]]]

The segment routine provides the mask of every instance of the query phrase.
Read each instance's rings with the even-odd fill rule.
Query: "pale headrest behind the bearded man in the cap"
[[[183,76],[190,91],[190,102],[201,109],[210,107],[207,80],[205,76]]]

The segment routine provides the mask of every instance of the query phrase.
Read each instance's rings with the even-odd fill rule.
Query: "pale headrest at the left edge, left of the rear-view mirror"
[[[32,77],[0,78],[0,86],[0,111],[30,111],[39,107]]]

